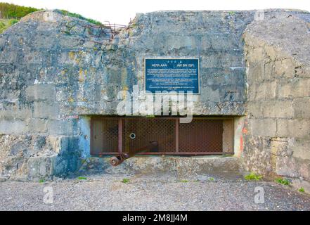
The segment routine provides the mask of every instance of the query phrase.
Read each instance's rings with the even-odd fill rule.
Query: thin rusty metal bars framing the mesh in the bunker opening
[[[130,120],[130,119],[137,119],[141,117],[115,117],[115,116],[92,116],[91,117],[91,141],[90,141],[90,147],[91,151],[93,149],[93,119],[94,118],[101,118],[101,119],[117,119],[118,120],[118,146],[117,150],[118,152],[115,153],[100,153],[99,156],[103,155],[118,155],[123,152],[123,145],[124,145],[124,140],[123,140],[123,124],[124,120]],[[157,153],[140,153],[138,155],[224,155],[224,154],[232,154],[233,153],[224,153],[222,152],[179,152],[179,120],[180,117],[155,117],[155,118],[162,118],[164,120],[175,120],[175,139],[176,139],[176,149],[174,152],[157,152]],[[147,117],[145,118],[147,119]],[[151,118],[153,119],[153,118]],[[233,117],[195,117],[195,120],[233,120]]]

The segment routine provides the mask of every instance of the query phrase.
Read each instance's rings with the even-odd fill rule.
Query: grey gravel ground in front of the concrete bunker
[[[257,186],[264,188],[261,204],[254,203]],[[46,187],[53,190],[51,204],[44,203]],[[178,181],[171,176],[97,174],[86,180],[1,182],[0,210],[310,210],[310,195],[274,182],[237,178]]]

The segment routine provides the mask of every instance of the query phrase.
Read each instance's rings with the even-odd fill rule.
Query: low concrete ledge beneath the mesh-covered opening
[[[112,167],[110,157],[89,158],[79,172],[103,172],[107,174],[174,174],[179,178],[193,178],[206,174],[242,174],[240,160],[234,157],[160,157],[137,156]]]

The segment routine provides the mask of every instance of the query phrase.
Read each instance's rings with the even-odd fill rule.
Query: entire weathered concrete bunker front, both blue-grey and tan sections
[[[200,58],[193,113],[246,115],[245,169],[309,179],[309,13],[254,13],[138,14],[114,37],[56,11],[22,18],[0,35],[0,174],[77,171],[87,115],[115,115],[119,91],[143,90],[144,58],[174,56]]]

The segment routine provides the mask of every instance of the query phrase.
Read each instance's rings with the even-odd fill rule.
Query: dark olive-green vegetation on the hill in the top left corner
[[[17,6],[3,2],[0,3],[0,17],[4,19],[20,19],[29,13],[33,13],[39,10],[39,8]]]

